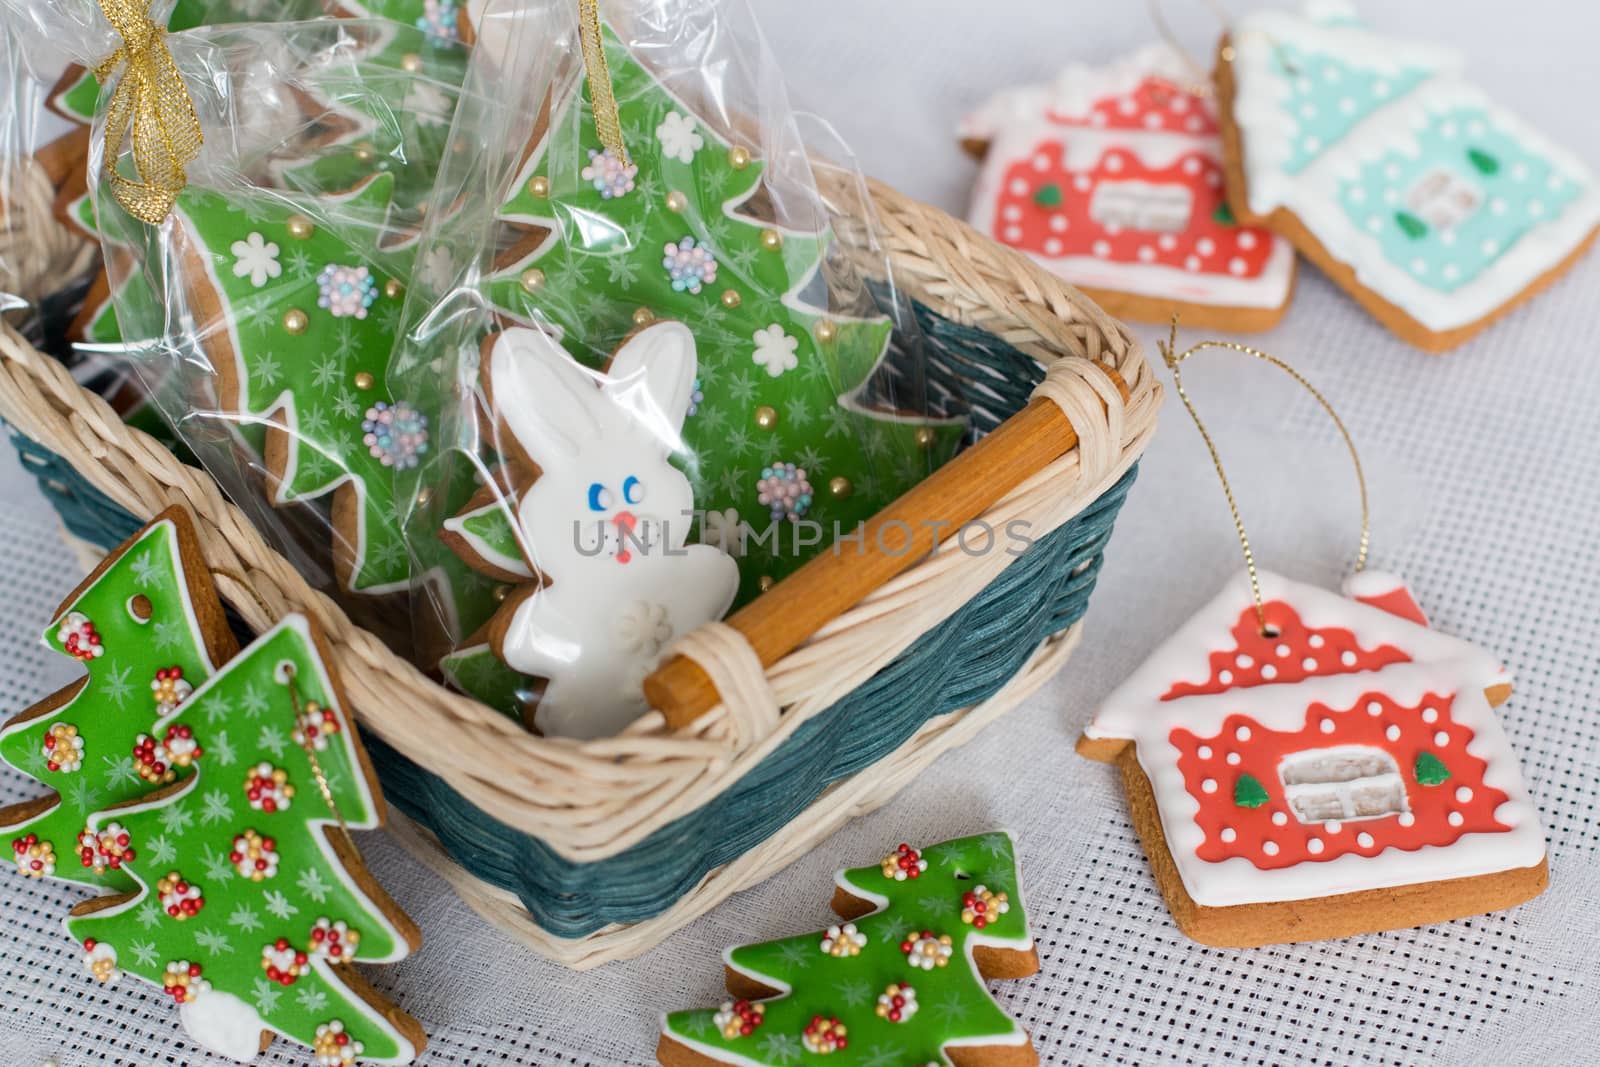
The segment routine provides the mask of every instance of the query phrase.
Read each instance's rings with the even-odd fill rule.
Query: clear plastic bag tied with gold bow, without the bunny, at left
[[[72,59],[112,51],[94,3],[54,6],[35,14],[58,35],[83,18]],[[350,18],[206,26],[165,46],[184,90],[166,128],[192,107],[203,136],[170,214],[150,224],[118,200],[150,181],[138,131],[91,162],[120,349],[269,539],[403,651],[394,467],[426,448],[426,426],[405,432],[386,371],[464,50],[453,32]]]

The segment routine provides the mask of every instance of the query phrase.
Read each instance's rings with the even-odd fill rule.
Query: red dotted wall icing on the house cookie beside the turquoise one
[[[1098,190],[1115,182],[1128,192],[1107,214]],[[1158,206],[1158,202],[1176,206]],[[1142,206],[1141,206],[1142,205]],[[1118,222],[1125,213],[1170,213],[1173,226]],[[1261,277],[1272,258],[1269,232],[1237,226],[1222,205],[1222,166],[1202,150],[1147,165],[1128,147],[1069,158],[1061,141],[1043,141],[1029,158],[1006,168],[995,205],[995,235],[1038,256],[1091,256],[1107,262],[1165,266],[1192,274]]]

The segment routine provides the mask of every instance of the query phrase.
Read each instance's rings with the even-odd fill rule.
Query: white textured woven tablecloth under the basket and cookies
[[[802,106],[838,120],[867,170],[947,208],[971,166],[949,144],[990,86],[1150,38],[1138,3],[925,0],[758,3]],[[1202,5],[1168,5],[1205,27]],[[1234,5],[1245,8],[1246,3]],[[1189,10],[1192,8],[1192,10]],[[1560,0],[1373,5],[1395,32],[1474,54],[1478,80],[1600,162],[1595,14]],[[1442,18],[1448,11],[1448,18]],[[1054,54],[1051,54],[1054,53]],[[883,74],[893,70],[893,77]],[[1538,77],[1526,77],[1528,72]],[[1574,99],[1568,99],[1573,96]],[[1237,544],[1198,435],[1173,405],[1107,553],[1082,649],[1061,678],[883,811],[742,893],[648,957],[573,976],[478,921],[382,835],[378,875],[421,923],[413,960],[370,971],[432,1035],[430,1065],[648,1064],[654,1013],[720,997],[725,944],[827,923],[830,873],[901,840],[992,825],[1019,833],[1043,971],[994,989],[1050,1064],[1592,1062],[1600,1005],[1600,258],[1464,349],[1392,341],[1315,272],[1259,344],[1302,370],[1350,424],[1373,488],[1373,561],[1402,571],[1435,625],[1501,654],[1502,709],[1550,843],[1550,889],[1507,913],[1339,942],[1202,949],[1179,936],[1133,838],[1110,768],[1078,728],[1178,622],[1237,573]],[[1158,331],[1142,331],[1154,342]],[[1186,334],[1186,342],[1195,339]],[[1334,582],[1355,552],[1342,446],[1309,398],[1242,357],[1186,378],[1229,461],[1262,563]],[[77,581],[51,512],[5,459],[0,707],[74,677],[37,632]],[[35,787],[0,773],[0,798]],[[59,917],[74,893],[0,878],[0,1064],[213,1064],[131,982],[82,969]],[[219,1061],[218,1061],[219,1062]],[[259,1062],[306,1064],[296,1048]]]

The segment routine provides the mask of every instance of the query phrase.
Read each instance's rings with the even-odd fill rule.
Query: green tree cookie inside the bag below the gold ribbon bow
[[[381,246],[394,178],[339,197],[213,192],[178,198],[198,344],[224,410],[264,458],[272,502],[330,496],[334,569],[350,592],[405,589],[394,475],[427,451],[429,419],[384,373],[411,251]]]

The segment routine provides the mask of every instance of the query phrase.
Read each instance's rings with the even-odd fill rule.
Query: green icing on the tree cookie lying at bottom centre
[[[765,985],[792,990],[763,1001],[765,1019],[750,1035],[725,1037],[715,1024],[715,1009],[672,1013],[664,1032],[712,1059],[773,1067],[944,1064],[949,1062],[944,1048],[950,1041],[1026,1041],[1022,1029],[1000,1009],[968,963],[974,937],[1024,950],[1032,945],[1011,837],[981,833],[934,845],[922,856],[928,870],[915,880],[894,881],[878,865],[842,875],[842,885],[854,896],[886,897],[880,910],[854,920],[867,937],[859,955],[827,955],[821,949],[822,934],[742,945],[728,953],[734,969]],[[982,931],[962,921],[962,896],[979,885],[1010,897],[1010,910]],[[947,966],[920,969],[901,952],[907,934],[925,929],[952,937]],[[917,1013],[904,1022],[890,1022],[875,1013],[877,998],[890,984],[909,984],[915,990]],[[837,1017],[846,1029],[848,1045],[826,1059],[803,1045],[802,1035],[814,1016]]]

